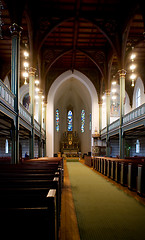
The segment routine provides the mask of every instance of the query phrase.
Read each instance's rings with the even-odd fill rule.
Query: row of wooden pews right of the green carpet
[[[140,164],[140,165],[139,165]],[[144,158],[94,157],[93,168],[138,194],[145,192]]]

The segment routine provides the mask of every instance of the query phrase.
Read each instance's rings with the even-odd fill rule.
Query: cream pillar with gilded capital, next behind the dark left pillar
[[[34,144],[35,144],[35,133],[34,133],[34,114],[35,114],[35,72],[36,69],[33,67],[29,68],[29,97],[30,104],[29,110],[31,113],[31,135],[30,135],[30,158],[34,158]]]

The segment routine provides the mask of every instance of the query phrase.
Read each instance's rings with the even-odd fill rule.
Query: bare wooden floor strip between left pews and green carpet
[[[80,240],[66,161],[64,161],[64,187],[62,190],[61,226],[59,239]]]

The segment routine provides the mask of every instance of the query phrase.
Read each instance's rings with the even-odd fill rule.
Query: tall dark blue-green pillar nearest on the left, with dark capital
[[[14,110],[16,113],[12,129],[12,163],[19,162],[19,83],[20,83],[20,35],[22,28],[16,23],[10,27],[12,36],[11,53],[11,91],[15,95]]]

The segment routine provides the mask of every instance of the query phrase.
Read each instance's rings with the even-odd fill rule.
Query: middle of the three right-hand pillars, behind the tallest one
[[[110,125],[110,90],[106,91],[106,156],[110,156],[110,142],[109,142],[109,125]]]

